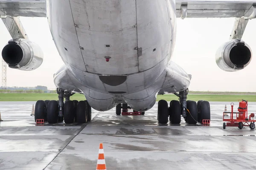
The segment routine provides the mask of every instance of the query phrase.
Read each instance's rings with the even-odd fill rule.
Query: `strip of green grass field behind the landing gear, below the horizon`
[[[85,100],[84,95],[75,94],[70,97],[71,100]],[[174,94],[158,95],[157,101],[165,99],[166,101],[177,100]],[[249,102],[256,102],[256,95],[221,95],[221,94],[190,94],[189,100],[207,100],[209,102],[236,102],[239,99],[245,99]],[[58,100],[58,94],[35,94],[35,93],[0,93],[0,101],[37,101],[37,100]]]

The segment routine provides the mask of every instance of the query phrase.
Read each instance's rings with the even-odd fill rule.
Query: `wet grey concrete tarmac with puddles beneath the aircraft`
[[[36,126],[35,102],[0,102],[1,170],[95,170],[99,143],[108,170],[255,170],[256,131],[223,130],[230,102],[210,102],[211,125],[159,125],[157,105],[144,116],[93,110],[84,125]],[[238,102],[235,102],[235,107]],[[249,102],[256,113],[256,102]]]

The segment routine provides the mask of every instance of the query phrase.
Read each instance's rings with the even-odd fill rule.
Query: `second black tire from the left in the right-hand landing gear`
[[[177,100],[172,100],[170,102],[170,122],[172,124],[180,124],[181,122],[181,108],[180,108],[180,102]]]

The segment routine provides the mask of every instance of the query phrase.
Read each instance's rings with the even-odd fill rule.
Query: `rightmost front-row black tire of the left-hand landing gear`
[[[76,108],[77,123],[83,124],[87,122],[87,102],[80,101]]]

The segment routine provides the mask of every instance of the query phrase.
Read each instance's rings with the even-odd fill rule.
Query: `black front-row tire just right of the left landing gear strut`
[[[72,100],[65,102],[63,117],[66,124],[73,124],[75,122],[75,104]]]

